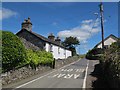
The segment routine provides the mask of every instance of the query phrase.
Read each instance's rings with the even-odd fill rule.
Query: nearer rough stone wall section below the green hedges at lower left
[[[36,70],[32,69],[30,67],[22,67],[17,70],[11,70],[9,72],[1,74],[2,76],[2,85],[8,85],[11,83],[18,82],[20,80],[26,79],[28,77],[31,77],[33,75],[37,75],[43,72],[46,72],[48,70],[51,70],[52,68],[48,66],[39,66]]]

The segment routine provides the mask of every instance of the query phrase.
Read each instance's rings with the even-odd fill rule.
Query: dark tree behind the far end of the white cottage
[[[79,45],[79,40],[77,37],[66,37],[66,39],[63,41],[63,45],[70,49],[72,51],[72,56],[76,55],[76,49],[75,47]]]

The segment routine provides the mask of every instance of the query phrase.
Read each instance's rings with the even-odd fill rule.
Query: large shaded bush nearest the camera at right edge
[[[110,48],[105,50],[102,59],[103,75],[105,80],[112,88],[120,88],[120,44],[113,43]]]

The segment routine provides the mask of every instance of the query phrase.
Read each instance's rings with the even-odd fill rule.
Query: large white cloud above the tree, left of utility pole
[[[66,38],[69,36],[77,37],[80,42],[87,43],[87,39],[100,31],[100,19],[83,20],[80,25],[70,29],[58,32],[58,36]]]

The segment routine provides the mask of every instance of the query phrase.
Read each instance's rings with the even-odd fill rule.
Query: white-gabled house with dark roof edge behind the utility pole
[[[105,48],[108,48],[112,43],[116,42],[118,38],[114,36],[113,34],[109,35],[104,39],[104,46]],[[99,42],[96,46],[96,48],[102,48],[102,41]]]

